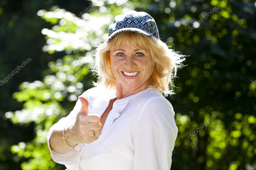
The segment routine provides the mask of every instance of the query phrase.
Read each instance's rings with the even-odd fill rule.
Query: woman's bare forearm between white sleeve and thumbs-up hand
[[[63,136],[63,129],[65,128],[65,126],[64,127],[56,126],[56,128],[52,130],[52,133],[49,139],[50,149],[59,154],[68,153],[72,150],[69,147],[67,147],[66,143],[70,147],[75,146],[77,144],[75,141],[72,140],[71,135],[65,136],[66,143],[64,142],[62,136]],[[69,129],[70,129],[70,126],[67,126],[65,133],[67,133]]]

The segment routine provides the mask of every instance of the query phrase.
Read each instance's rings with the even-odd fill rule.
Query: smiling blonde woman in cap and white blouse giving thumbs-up
[[[98,82],[47,134],[52,159],[69,170],[170,169],[178,128],[164,96],[185,58],[145,12],[116,16],[108,31],[95,53]]]

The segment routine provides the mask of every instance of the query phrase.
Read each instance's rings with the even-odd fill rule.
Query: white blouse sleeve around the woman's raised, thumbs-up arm
[[[88,100],[86,91],[81,96],[83,96],[84,98],[86,98]],[[74,164],[74,162],[76,161],[76,156],[77,156],[77,152],[78,152],[78,150],[76,150],[77,147],[73,148],[68,153],[59,154],[59,153],[56,153],[55,151],[51,150],[50,144],[49,144],[49,139],[50,139],[52,130],[54,128],[56,128],[58,126],[64,127],[65,125],[71,125],[76,122],[77,113],[80,111],[81,106],[82,106],[81,100],[78,99],[74,109],[69,113],[69,115],[61,118],[57,123],[52,125],[48,131],[47,143],[48,143],[48,147],[50,149],[52,160],[56,163],[63,164],[63,165],[71,165],[71,164]]]

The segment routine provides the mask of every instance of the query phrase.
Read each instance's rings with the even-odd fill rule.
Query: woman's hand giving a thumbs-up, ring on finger
[[[91,143],[99,138],[102,130],[101,118],[97,114],[88,114],[88,100],[79,96],[82,102],[81,110],[77,114],[74,125],[71,125],[70,143]],[[68,139],[68,138],[67,138]]]

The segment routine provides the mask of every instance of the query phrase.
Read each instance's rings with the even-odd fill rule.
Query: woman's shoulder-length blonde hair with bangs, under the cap
[[[115,89],[115,77],[111,71],[110,50],[117,49],[126,43],[129,47],[144,48],[150,52],[152,60],[155,60],[155,69],[148,80],[148,87],[159,89],[164,96],[173,95],[173,78],[176,77],[177,69],[183,67],[184,55],[178,54],[167,44],[155,36],[146,36],[133,31],[124,31],[116,34],[110,39],[95,47],[95,60],[91,71],[97,75],[97,83],[94,86],[104,85],[106,89]],[[170,89],[169,89],[170,85]]]

